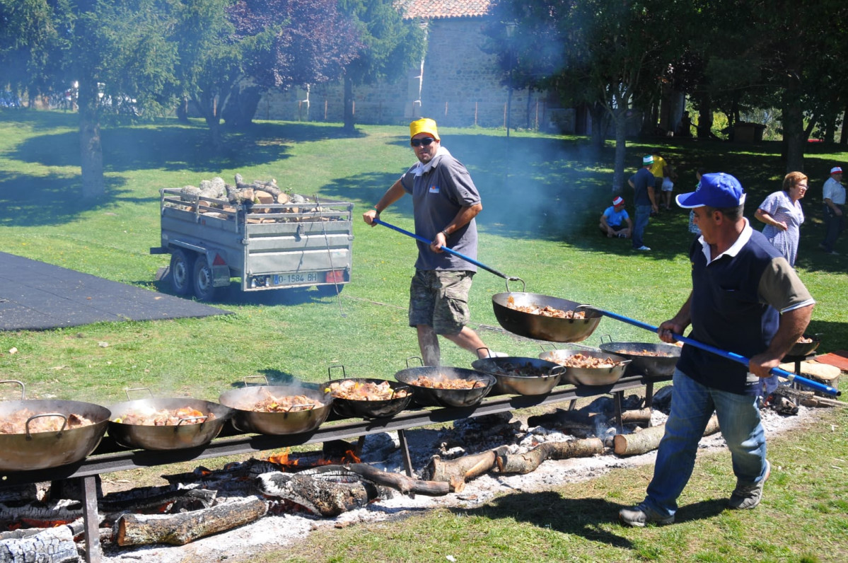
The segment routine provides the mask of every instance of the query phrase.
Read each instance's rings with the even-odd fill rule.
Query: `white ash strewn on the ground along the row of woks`
[[[767,436],[773,437],[797,426],[801,421],[814,416],[815,410],[801,406],[798,415],[778,415],[773,410],[761,410],[762,424]],[[655,410],[651,417],[652,425],[662,424],[666,415]],[[481,424],[482,423],[482,424]],[[500,426],[510,426],[518,430],[510,438],[510,450],[513,453],[527,451],[534,443],[573,439],[556,430],[542,427],[527,428],[519,419],[500,421],[494,427],[491,417],[478,420],[456,421],[453,427],[441,430],[412,429],[406,431],[410,447],[410,458],[414,469],[420,472],[433,454],[446,457],[447,453],[475,454],[487,449],[504,445],[505,430]],[[468,442],[460,446],[459,437]],[[499,439],[494,439],[499,438]],[[397,449],[398,437],[395,433],[376,434],[365,439],[362,460],[384,471],[403,472],[402,456]],[[721,433],[702,438],[700,449],[724,448]],[[287,514],[265,516],[243,527],[215,536],[200,538],[183,546],[142,546],[138,548],[114,548],[107,546],[103,554],[103,563],[126,563],[128,561],[150,560],[157,563],[182,563],[195,561],[249,561],[261,552],[280,549],[306,538],[310,532],[333,527],[346,527],[359,522],[385,521],[394,517],[408,516],[437,507],[474,508],[493,499],[496,495],[514,492],[534,492],[559,486],[566,482],[583,482],[600,477],[616,468],[628,468],[653,463],[656,451],[647,454],[619,457],[615,454],[594,455],[588,458],[544,461],[535,471],[525,475],[500,475],[489,472],[466,484],[461,493],[450,493],[444,497],[427,497],[421,494],[414,499],[397,494],[392,499],[383,499],[368,506],[351,510],[336,518],[318,518],[308,514]],[[729,468],[728,468],[729,471]]]

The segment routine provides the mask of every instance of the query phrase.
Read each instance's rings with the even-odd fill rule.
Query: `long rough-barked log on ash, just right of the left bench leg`
[[[115,523],[116,543],[121,546],[148,543],[185,545],[195,539],[259,520],[267,510],[265,500],[252,498],[179,514],[125,514]]]

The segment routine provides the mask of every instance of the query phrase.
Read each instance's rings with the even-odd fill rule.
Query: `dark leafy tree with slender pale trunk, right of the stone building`
[[[588,105],[595,148],[603,142],[603,116],[615,124],[613,192],[624,183],[628,114],[640,97],[653,92],[668,63],[683,53],[683,38],[669,22],[688,9],[688,3],[663,0],[493,4],[495,20],[517,24],[509,46],[519,69],[514,84],[538,83],[563,100]],[[544,78],[536,78],[538,73]]]

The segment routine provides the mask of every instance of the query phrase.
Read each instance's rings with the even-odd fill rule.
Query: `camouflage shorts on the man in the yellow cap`
[[[436,334],[458,334],[470,313],[472,271],[417,270],[410,284],[410,326],[432,326]]]

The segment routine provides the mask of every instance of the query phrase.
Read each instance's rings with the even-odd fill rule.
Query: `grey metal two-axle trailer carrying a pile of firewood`
[[[315,286],[335,295],[350,281],[354,204],[232,203],[159,190],[161,246],[170,254],[167,276],[177,295],[215,298],[231,278],[243,292]]]

